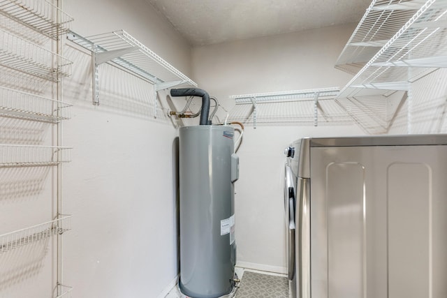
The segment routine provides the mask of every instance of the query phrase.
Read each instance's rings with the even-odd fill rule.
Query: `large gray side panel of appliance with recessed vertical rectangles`
[[[447,146],[311,150],[312,298],[447,297]]]

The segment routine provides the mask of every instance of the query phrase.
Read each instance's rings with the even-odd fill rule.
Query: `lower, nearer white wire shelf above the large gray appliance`
[[[355,96],[359,89],[406,91],[409,83],[441,67],[447,67],[447,0],[428,0],[346,84],[339,97]]]

